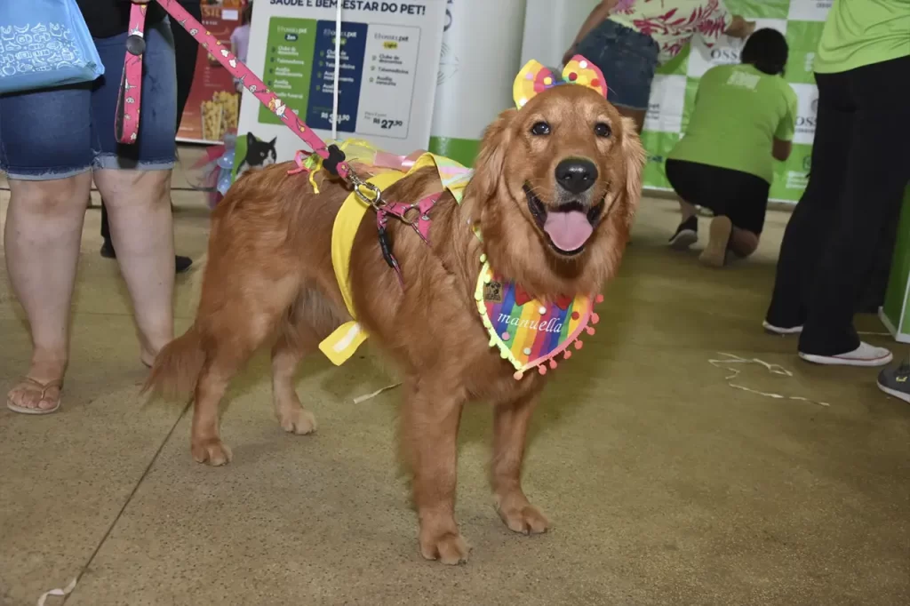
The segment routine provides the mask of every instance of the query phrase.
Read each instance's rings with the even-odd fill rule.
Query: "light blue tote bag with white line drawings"
[[[104,73],[76,0],[0,0],[0,95]]]

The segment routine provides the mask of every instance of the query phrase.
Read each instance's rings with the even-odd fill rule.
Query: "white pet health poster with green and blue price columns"
[[[248,66],[325,140],[365,139],[407,155],[427,148],[446,0],[340,0],[338,116],[333,115],[338,0],[258,0]],[[235,166],[293,159],[306,145],[248,91]]]

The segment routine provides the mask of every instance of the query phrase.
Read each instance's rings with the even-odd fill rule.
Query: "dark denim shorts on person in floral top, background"
[[[581,39],[577,52],[601,68],[610,103],[647,109],[660,50],[650,35],[605,19]]]

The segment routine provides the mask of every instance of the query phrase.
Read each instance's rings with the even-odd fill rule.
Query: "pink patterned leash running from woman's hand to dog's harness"
[[[171,18],[176,19],[189,35],[217,59],[227,71],[249,89],[262,105],[278,116],[285,125],[303,139],[303,142],[322,157],[322,166],[333,175],[338,175],[351,183],[360,192],[363,182],[353,174],[345,156],[338,146],[326,146],[319,136],[288,109],[278,95],[268,90],[266,85],[250,69],[238,60],[228,48],[225,48],[215,36],[207,32],[187,10],[177,4],[177,0],[157,0]],[[121,81],[121,102],[117,104],[116,137],[120,143],[133,143],[139,130],[139,104],[142,84],[142,53],[145,51],[145,21],[147,5],[133,5],[129,15],[129,37],[126,38],[126,63],[124,77]],[[130,106],[135,105],[135,110]],[[359,193],[361,197],[362,194]]]

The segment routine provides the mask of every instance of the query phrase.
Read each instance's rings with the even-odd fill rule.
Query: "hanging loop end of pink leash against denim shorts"
[[[134,143],[139,135],[139,111],[142,107],[142,54],[146,51],[146,8],[133,5],[129,13],[129,35],[126,58],[120,77],[120,95],[116,101],[114,123],[116,140]]]

